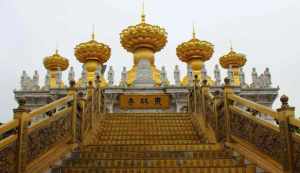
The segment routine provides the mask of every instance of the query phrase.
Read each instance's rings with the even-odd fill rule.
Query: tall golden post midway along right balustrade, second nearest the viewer
[[[231,102],[228,99],[228,96],[230,94],[233,94],[232,86],[230,85],[230,79],[225,78],[224,79],[225,86],[224,86],[224,107],[225,107],[225,127],[226,127],[226,141],[231,142],[231,112],[229,110],[229,105]]]

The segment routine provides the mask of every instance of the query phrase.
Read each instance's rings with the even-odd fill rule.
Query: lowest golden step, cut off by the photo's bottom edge
[[[56,173],[245,173],[245,166],[201,168],[73,168],[63,167]]]

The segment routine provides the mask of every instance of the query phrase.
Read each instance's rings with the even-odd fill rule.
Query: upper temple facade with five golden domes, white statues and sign
[[[194,30],[190,40],[174,49],[178,58],[186,64],[187,72],[182,74],[176,65],[172,76],[175,82],[171,83],[171,76],[167,75],[165,66],[159,69],[155,63],[155,53],[162,51],[167,44],[167,32],[160,26],[147,23],[144,13],[137,25],[121,31],[120,43],[133,55],[133,64],[131,67],[123,67],[120,81],[114,80],[113,66],[106,67],[111,56],[110,47],[98,42],[93,33],[91,40],[75,46],[74,55],[82,64],[82,71],[76,73],[81,74],[80,76],[75,75],[73,67],[69,67],[68,59],[56,50],[53,55],[44,58],[47,74],[43,84],[37,71],[32,77],[23,71],[21,88],[14,91],[16,100],[25,98],[27,108],[34,109],[64,97],[70,81],[75,81],[76,87],[82,92],[86,92],[90,82],[93,86],[100,85],[103,88],[105,110],[110,113],[186,112],[188,93],[195,84],[201,85],[203,80],[207,80],[214,92],[222,89],[222,79],[225,77],[230,79],[235,93],[257,103],[271,107],[278,95],[279,88],[273,87],[268,67],[261,74],[253,68],[252,82],[246,83],[243,71],[246,68],[246,55],[238,53],[232,47],[220,57],[220,64],[215,65],[213,74],[208,74],[205,62],[212,57],[214,45],[198,39]],[[221,76],[221,70],[226,70],[227,75]],[[62,75],[68,75],[69,81],[62,81]]]

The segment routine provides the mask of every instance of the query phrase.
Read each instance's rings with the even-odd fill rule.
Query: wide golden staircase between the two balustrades
[[[230,150],[209,143],[190,114],[106,114],[88,144],[54,173],[246,173]]]

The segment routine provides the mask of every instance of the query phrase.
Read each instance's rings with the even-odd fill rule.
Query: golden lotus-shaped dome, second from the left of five
[[[97,42],[94,34],[92,35],[92,40],[80,43],[75,47],[75,56],[81,63],[95,60],[102,64],[110,58],[110,55],[110,47],[104,43]]]

